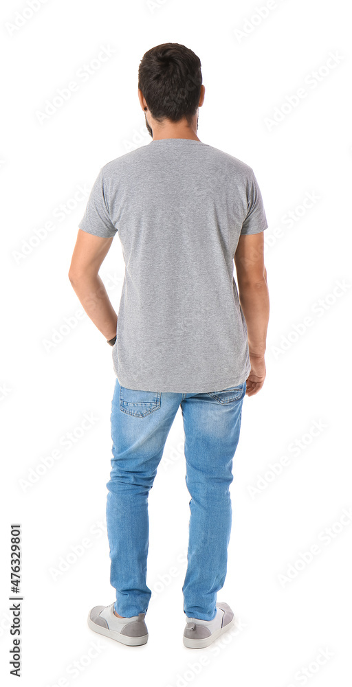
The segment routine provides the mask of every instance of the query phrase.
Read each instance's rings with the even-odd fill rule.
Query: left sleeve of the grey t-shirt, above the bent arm
[[[91,188],[85,214],[80,223],[78,223],[78,227],[83,229],[83,232],[102,236],[102,238],[111,238],[118,231],[109,216],[102,169]]]

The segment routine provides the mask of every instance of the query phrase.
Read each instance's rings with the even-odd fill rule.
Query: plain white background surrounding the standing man
[[[0,30],[2,684],[14,682],[14,522],[23,530],[26,687],[351,684],[349,3],[47,0],[30,16],[28,2],[5,0]],[[115,375],[106,341],[87,315],[77,317],[67,273],[87,198],[76,207],[72,199],[108,161],[151,141],[137,69],[146,50],[166,42],[201,59],[199,139],[254,169],[269,223],[267,378],[243,404],[228,576],[218,594],[234,609],[237,631],[201,651],[182,643],[189,495],[180,410],[149,497],[148,643],[123,646],[87,627],[89,609],[115,598],[104,526]],[[101,47],[113,51],[109,59],[78,78]],[[72,80],[76,92],[41,122],[46,101]],[[287,105],[303,88],[305,98]],[[49,222],[45,236],[39,230]],[[117,312],[118,238],[100,275]],[[56,330],[65,333],[58,343]],[[80,431],[85,414],[96,419]],[[43,468],[55,450],[60,457]]]

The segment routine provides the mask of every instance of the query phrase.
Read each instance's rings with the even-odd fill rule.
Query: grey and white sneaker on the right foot
[[[234,624],[234,614],[227,603],[217,603],[217,616],[214,620],[188,618],[184,631],[184,646],[188,649],[203,649],[215,642],[220,635],[227,632]],[[223,611],[223,613],[219,613]],[[222,616],[222,617],[221,617]]]

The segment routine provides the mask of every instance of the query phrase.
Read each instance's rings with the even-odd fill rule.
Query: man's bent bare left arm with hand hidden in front
[[[118,316],[98,272],[112,241],[78,229],[68,274],[83,309],[108,341],[115,337]]]

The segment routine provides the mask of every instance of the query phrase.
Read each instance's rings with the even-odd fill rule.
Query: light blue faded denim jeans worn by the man
[[[135,391],[116,378],[111,404],[113,440],[107,482],[107,532],[114,608],[125,618],[148,610],[148,492],[181,404],[186,485],[190,493],[184,613],[212,620],[227,571],[232,524],[229,486],[239,442],[246,382],[202,394]]]

